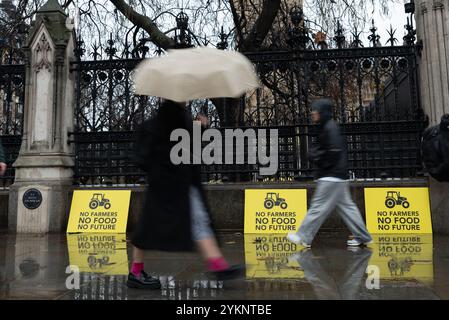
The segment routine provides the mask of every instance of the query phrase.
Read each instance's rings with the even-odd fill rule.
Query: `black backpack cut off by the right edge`
[[[449,131],[441,132],[445,120],[443,117],[442,125],[426,129],[421,142],[424,166],[440,182],[449,182]]]

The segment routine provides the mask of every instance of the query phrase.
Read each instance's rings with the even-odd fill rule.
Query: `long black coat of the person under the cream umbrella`
[[[196,186],[204,202],[198,166],[174,165],[170,141],[175,129],[192,132],[185,107],[166,101],[156,116],[143,123],[136,141],[135,161],[148,175],[144,210],[131,242],[143,250],[191,251],[190,187]],[[192,135],[191,135],[192,136]]]

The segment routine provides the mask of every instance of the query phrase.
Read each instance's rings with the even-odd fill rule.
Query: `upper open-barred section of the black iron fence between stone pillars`
[[[263,87],[234,105],[228,100],[219,107],[193,102],[192,111],[208,114],[221,127],[307,124],[311,102],[331,97],[335,118],[342,123],[422,119],[417,50],[400,46],[248,53]],[[74,64],[77,131],[135,130],[153,114],[160,99],[137,96],[132,88],[133,69],[140,61]]]

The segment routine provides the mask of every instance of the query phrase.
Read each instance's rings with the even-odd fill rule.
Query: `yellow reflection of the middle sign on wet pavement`
[[[303,278],[304,272],[290,257],[300,248],[285,234],[245,234],[247,278]]]

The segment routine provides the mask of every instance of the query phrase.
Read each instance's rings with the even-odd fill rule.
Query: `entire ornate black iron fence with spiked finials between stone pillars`
[[[363,47],[360,33],[347,41],[339,28],[334,49],[313,43],[303,33],[292,37],[296,39],[291,42],[293,48],[247,53],[262,88],[240,101],[195,101],[191,110],[194,115],[207,114],[219,130],[278,129],[279,171],[264,178],[258,175],[257,165],[211,165],[203,167],[204,181],[311,179],[310,106],[320,97],[335,101],[334,116],[347,137],[354,178],[422,175],[419,145],[426,123],[417,81],[420,47],[415,44],[413,27],[406,28],[400,46],[393,31],[382,46],[373,27],[371,45]],[[135,130],[157,110],[160,99],[133,93],[132,72],[141,59],[130,58],[125,49],[127,53],[117,59],[114,42],[109,40],[107,60],[97,60],[99,54],[94,52],[94,60],[80,59],[73,65],[78,79],[77,125],[71,133],[77,183],[141,184],[145,180],[130,155]]]

